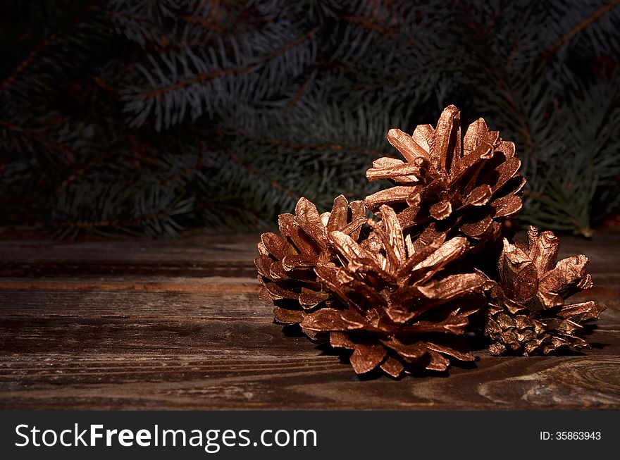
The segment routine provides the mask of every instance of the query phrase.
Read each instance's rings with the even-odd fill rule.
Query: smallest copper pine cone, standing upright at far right
[[[552,232],[528,228],[528,244],[504,240],[500,256],[500,283],[488,292],[485,335],[490,352],[548,354],[559,349],[590,348],[577,337],[583,321],[598,318],[604,306],[595,302],[564,304],[577,292],[592,287],[585,272],[588,258],[572,256],[556,263],[559,239]]]

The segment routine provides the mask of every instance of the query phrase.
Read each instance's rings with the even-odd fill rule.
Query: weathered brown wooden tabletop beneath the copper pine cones
[[[582,354],[358,378],[257,299],[258,235],[0,235],[0,409],[620,409],[620,232],[566,238],[607,306]]]

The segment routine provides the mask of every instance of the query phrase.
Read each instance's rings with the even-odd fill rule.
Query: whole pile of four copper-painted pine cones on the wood
[[[260,298],[275,321],[352,350],[356,373],[394,378],[473,361],[472,330],[493,355],[588,348],[580,323],[604,307],[566,304],[592,287],[588,258],[557,261],[558,238],[533,227],[527,243],[505,237],[526,182],[514,144],[482,118],[461,139],[454,106],[436,128],[387,140],[404,161],[379,158],[366,177],[393,187],[351,203],[340,195],[325,213],[302,198],[280,215],[279,235],[261,236]]]

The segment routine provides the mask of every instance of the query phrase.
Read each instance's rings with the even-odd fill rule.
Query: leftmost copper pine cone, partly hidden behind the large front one
[[[266,232],[259,242],[260,255],[254,259],[263,284],[259,297],[275,305],[275,321],[297,324],[304,311],[311,311],[329,299],[316,280],[314,266],[330,261],[335,254],[328,244],[328,232],[340,231],[357,240],[366,222],[366,206],[340,195],[331,212],[319,215],[316,206],[299,199],[295,215],[280,214],[280,235]]]

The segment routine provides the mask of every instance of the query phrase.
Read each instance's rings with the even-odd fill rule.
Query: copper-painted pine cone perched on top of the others
[[[434,225],[448,237],[466,236],[472,245],[497,240],[502,221],[521,209],[526,180],[514,144],[490,131],[478,118],[461,147],[459,109],[444,109],[433,130],[419,125],[413,136],[387,132],[387,140],[406,161],[383,157],[366,172],[368,180],[389,179],[396,186],[366,198],[371,210],[392,206],[403,228],[414,235]]]

